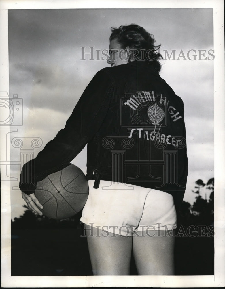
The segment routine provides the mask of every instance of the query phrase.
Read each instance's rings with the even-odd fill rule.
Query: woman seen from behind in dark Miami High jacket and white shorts
[[[112,68],[84,90],[64,129],[24,165],[23,199],[41,213],[37,181],[67,166],[88,144],[85,223],[94,275],[174,274],[176,209],[187,155],[184,106],[159,76],[159,46],[135,24],[111,28]],[[29,168],[34,174],[29,174]]]

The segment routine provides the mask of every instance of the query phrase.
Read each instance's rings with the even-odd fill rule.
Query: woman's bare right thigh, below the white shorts
[[[174,275],[175,237],[169,232],[171,236],[167,231],[134,234],[133,254],[138,275]]]

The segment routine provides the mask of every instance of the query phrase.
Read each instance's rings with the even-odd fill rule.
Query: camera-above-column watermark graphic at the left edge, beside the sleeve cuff
[[[1,164],[1,181],[17,181],[16,177],[9,176],[9,168],[19,166],[21,171],[22,166],[34,158],[34,151],[36,148],[42,146],[43,141],[40,137],[29,137],[29,136],[17,136],[13,137],[10,142],[10,136],[12,133],[18,133],[18,127],[23,126],[23,99],[14,94],[10,97],[8,92],[0,92],[0,130],[1,138],[4,142],[1,142],[1,149],[5,151],[4,159],[0,161]],[[17,155],[18,158],[10,158],[10,148],[19,149]],[[33,165],[29,167],[29,172],[33,173]],[[19,186],[11,186],[12,190],[20,190]]]

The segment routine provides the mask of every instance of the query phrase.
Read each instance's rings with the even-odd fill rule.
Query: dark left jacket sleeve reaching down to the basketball
[[[65,128],[48,142],[36,158],[22,167],[20,190],[25,194],[35,192],[37,181],[66,167],[99,130],[109,109],[113,85],[103,70],[90,81]]]

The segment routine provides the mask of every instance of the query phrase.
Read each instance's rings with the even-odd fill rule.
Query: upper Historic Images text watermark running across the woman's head
[[[122,53],[124,49],[117,50],[114,52],[118,52],[118,57],[120,60],[128,60],[128,55]],[[147,59],[148,61],[153,61],[156,59],[156,56],[152,53],[152,49],[148,49],[147,51],[141,49],[137,51],[136,49],[131,49],[132,56],[135,60],[144,61]],[[215,51],[214,49],[189,49],[189,50],[167,50],[167,49],[158,49],[157,53],[162,55],[163,60],[214,60],[215,59]],[[137,57],[138,55],[138,57]],[[145,55],[145,57],[144,57]],[[111,56],[112,60],[115,60],[114,54]],[[95,49],[94,46],[81,46],[81,58],[80,60],[105,60],[109,59],[109,49]]]

